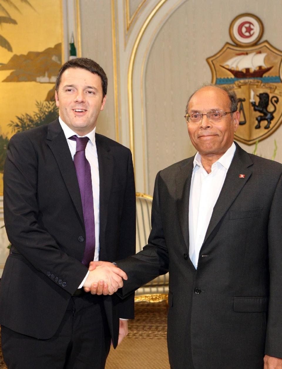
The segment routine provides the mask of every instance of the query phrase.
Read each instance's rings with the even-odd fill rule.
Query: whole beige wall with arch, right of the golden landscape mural
[[[82,54],[101,63],[109,77],[107,107],[97,131],[115,139],[116,124],[119,125],[119,141],[134,151],[137,190],[149,194],[153,192],[158,170],[195,153],[183,118],[186,100],[201,83],[212,79],[206,58],[216,54],[226,42],[233,43],[229,36],[233,18],[241,13],[257,15],[264,24],[261,41],[268,40],[282,49],[281,0],[267,3],[264,0],[166,0],[143,30],[134,55],[131,89],[128,76],[134,43],[160,3],[157,0],[80,0]],[[130,17],[134,17],[128,31],[126,4]],[[117,106],[113,94],[112,16],[117,31],[118,121],[114,119]],[[130,89],[133,122],[129,118]],[[133,144],[130,123],[134,128]],[[280,127],[259,143],[259,155],[270,158],[276,139],[276,160],[282,162],[281,130]],[[249,152],[254,150],[254,145],[241,146]]]

